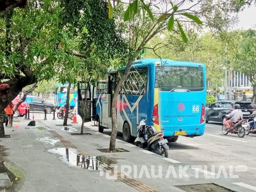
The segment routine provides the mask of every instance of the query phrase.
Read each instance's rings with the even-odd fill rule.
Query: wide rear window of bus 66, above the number
[[[202,91],[204,89],[202,67],[157,66],[155,87],[163,91],[187,89]]]

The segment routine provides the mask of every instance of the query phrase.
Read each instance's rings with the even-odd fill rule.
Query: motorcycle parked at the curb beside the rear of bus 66
[[[153,126],[147,126],[145,121],[146,119],[140,121],[134,143],[140,148],[145,148],[167,158],[167,149],[169,149],[167,139],[163,138],[163,133],[157,133]]]

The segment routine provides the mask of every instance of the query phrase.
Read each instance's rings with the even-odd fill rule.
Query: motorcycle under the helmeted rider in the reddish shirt
[[[239,122],[237,123],[234,123],[231,128],[227,128],[226,127],[226,121],[228,120],[229,118],[224,118],[223,119],[223,125],[222,125],[222,133],[224,135],[226,135],[227,133],[235,133],[238,135],[238,137],[240,138],[243,138],[245,136],[245,129],[242,127],[242,122],[244,120],[240,120]]]

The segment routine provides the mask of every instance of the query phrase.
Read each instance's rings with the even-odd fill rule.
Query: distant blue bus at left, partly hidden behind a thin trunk
[[[55,98],[54,102],[57,108],[62,107],[66,104],[67,100],[67,91],[68,91],[69,84],[58,84],[55,87]],[[69,106],[70,108],[74,108],[76,104],[76,97],[77,97],[77,89],[74,85],[71,85],[70,92],[69,92]]]

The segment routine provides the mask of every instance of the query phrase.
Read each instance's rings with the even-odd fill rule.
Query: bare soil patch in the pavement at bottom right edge
[[[196,185],[178,185],[175,186],[186,192],[234,192],[225,187],[216,185],[214,183],[196,184]]]

